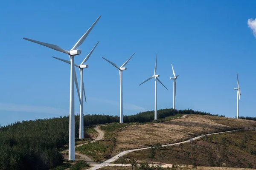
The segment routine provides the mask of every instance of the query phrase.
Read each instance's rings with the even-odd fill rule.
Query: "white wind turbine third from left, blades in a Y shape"
[[[131,57],[133,57],[134,54],[132,54]],[[102,57],[103,59],[105,59],[107,62],[111,63],[114,67],[116,67],[119,70],[119,81],[120,81],[120,123],[123,123],[123,113],[122,113],[122,110],[123,110],[122,109],[122,71],[126,70],[126,67],[124,67],[124,66],[129,62],[131,57],[120,68],[115,63],[113,63],[113,62],[109,61],[108,59],[105,59],[104,57]]]

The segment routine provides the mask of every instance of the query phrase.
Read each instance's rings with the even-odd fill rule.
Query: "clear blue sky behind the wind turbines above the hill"
[[[256,18],[256,1],[10,0],[2,6],[0,125],[68,115],[70,66],[52,58],[67,54],[22,38],[70,50],[99,15],[75,57],[80,64],[99,41],[84,70],[85,114],[119,114],[119,73],[102,57],[121,66],[135,52],[123,71],[124,115],[154,110],[154,80],[139,84],[154,74],[157,53],[157,74],[169,89],[157,84],[158,109],[172,108],[173,64],[180,74],[177,109],[236,116],[238,71],[240,116],[255,116],[256,38],[247,21]]]

